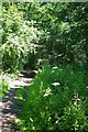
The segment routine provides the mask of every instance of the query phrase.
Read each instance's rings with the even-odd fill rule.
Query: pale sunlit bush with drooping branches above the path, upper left
[[[23,20],[14,6],[3,8],[2,28],[3,70],[15,72],[26,63],[30,53],[36,53],[40,32],[33,22]]]

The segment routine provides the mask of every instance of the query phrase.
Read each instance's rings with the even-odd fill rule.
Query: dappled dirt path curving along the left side
[[[25,77],[25,75],[29,75]],[[19,132],[15,119],[21,108],[18,106],[16,94],[21,86],[30,86],[33,76],[29,73],[22,73],[19,78],[10,84],[10,90],[0,101],[0,132]]]

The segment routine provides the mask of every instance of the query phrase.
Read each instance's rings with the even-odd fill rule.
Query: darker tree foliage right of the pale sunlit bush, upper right
[[[26,8],[25,8],[26,7]],[[38,62],[84,66],[86,3],[19,3],[26,20],[43,31]],[[82,12],[82,13],[81,13]],[[38,15],[37,15],[38,14]],[[85,16],[85,18],[84,18]],[[80,18],[80,19],[79,19]]]

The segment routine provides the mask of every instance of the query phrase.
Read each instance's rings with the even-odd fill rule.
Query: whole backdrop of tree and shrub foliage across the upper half
[[[3,2],[3,69],[21,69],[24,64],[35,68],[46,62],[84,67],[86,8],[86,3]]]

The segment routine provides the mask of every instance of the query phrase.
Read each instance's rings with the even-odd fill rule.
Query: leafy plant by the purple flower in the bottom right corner
[[[85,114],[82,106],[78,105],[77,99],[69,105],[64,110],[64,116],[59,123],[62,131],[74,131],[74,132],[87,132],[88,131],[88,119]]]

